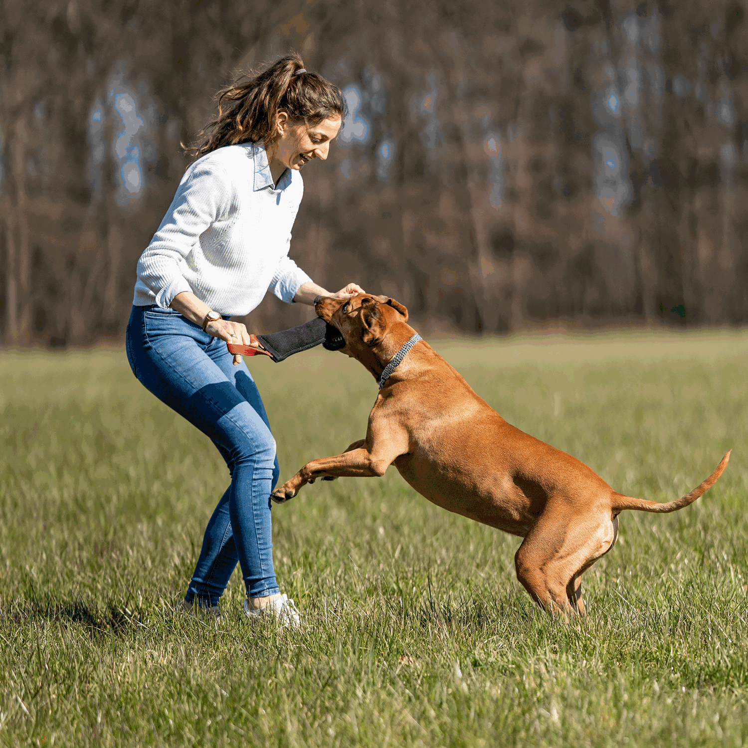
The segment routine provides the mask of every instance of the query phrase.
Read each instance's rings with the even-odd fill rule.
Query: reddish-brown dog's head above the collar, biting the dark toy
[[[318,296],[314,303],[317,316],[340,330],[346,345],[340,352],[353,355],[364,346],[373,348],[384,340],[387,330],[396,322],[408,321],[408,310],[393,298],[359,293],[352,298]]]

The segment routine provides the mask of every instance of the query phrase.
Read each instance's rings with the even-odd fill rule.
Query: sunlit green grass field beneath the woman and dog
[[[436,340],[506,420],[618,491],[589,619],[536,609],[519,540],[393,468],[273,510],[301,631],[175,615],[228,476],[117,351],[0,354],[3,746],[745,746],[748,334]],[[376,386],[322,350],[249,360],[281,480],[364,436]]]

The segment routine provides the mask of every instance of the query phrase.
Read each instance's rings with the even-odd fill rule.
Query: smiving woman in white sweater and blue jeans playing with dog
[[[126,335],[132,371],[212,440],[231,476],[205,532],[187,610],[218,615],[238,560],[245,613],[298,624],[273,568],[275,440],[252,375],[226,343],[263,352],[257,337],[230,317],[250,313],[267,290],[301,304],[320,294],[362,292],[349,283],[330,294],[288,257],[301,169],[327,158],[345,113],[340,90],[307,73],[298,55],[222,91],[218,118],[193,149],[197,161],[138,261]]]

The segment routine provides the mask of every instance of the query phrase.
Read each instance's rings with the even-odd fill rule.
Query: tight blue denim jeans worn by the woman
[[[226,343],[173,309],[132,307],[126,334],[132,373],[215,444],[231,476],[203,538],[185,600],[215,605],[237,560],[251,597],[280,592],[272,557],[270,493],[275,439],[254,379]]]

